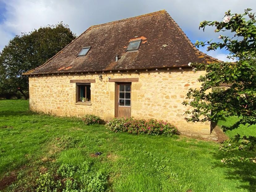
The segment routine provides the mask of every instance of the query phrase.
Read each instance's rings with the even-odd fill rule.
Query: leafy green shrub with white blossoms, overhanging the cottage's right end
[[[193,109],[186,111],[187,121],[191,122],[216,122],[220,117],[237,116],[238,121],[232,126],[224,126],[223,130],[232,130],[240,125],[250,128],[256,124],[256,20],[255,14],[246,9],[243,14],[231,14],[230,10],[224,15],[222,21],[203,21],[200,28],[214,26],[215,32],[230,32],[232,37],[219,35],[220,42],[199,42],[195,45],[207,46],[207,51],[226,49],[229,58],[235,58],[235,62],[216,62],[209,65],[189,63],[195,70],[206,70],[206,74],[198,80],[202,82],[199,90],[190,89],[184,105],[190,105]],[[212,87],[220,84],[230,85],[228,89],[218,92],[209,92]],[[233,144],[230,144],[230,143]],[[255,150],[256,138],[237,135],[222,146],[223,150]],[[255,161],[254,157],[232,157],[223,162],[233,160]],[[256,162],[256,161],[255,161]]]

